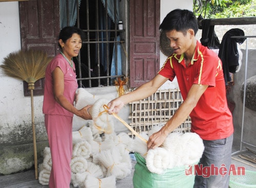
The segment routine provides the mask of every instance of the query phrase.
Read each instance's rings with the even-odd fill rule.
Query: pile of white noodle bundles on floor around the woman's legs
[[[116,180],[131,174],[134,139],[126,133],[114,132],[112,116],[103,105],[107,99],[98,99],[90,109],[93,120],[79,125],[73,131],[73,157],[71,159],[71,182],[74,187],[115,187]],[[110,131],[111,130],[111,131]],[[146,142],[142,142],[146,148]],[[143,150],[144,151],[144,150]],[[145,149],[146,152],[146,149]],[[51,172],[50,148],[45,148],[39,182],[48,185]]]

